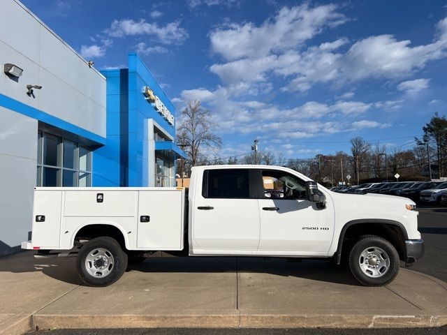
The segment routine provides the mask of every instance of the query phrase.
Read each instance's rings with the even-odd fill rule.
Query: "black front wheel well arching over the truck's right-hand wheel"
[[[343,233],[343,230],[342,230]],[[344,231],[343,236],[340,237],[339,248],[337,249],[337,263],[341,261],[342,254],[349,252],[349,249],[353,246],[355,241],[358,240],[360,236],[363,235],[376,235],[383,237],[390,241],[391,244],[396,248],[397,253],[401,260],[406,258],[405,250],[405,234],[399,225],[394,225],[390,223],[356,223],[349,225],[349,227]]]

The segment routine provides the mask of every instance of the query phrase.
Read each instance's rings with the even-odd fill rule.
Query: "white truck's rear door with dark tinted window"
[[[198,253],[256,253],[259,210],[251,179],[251,172],[244,168],[204,171],[201,193],[194,196],[192,209]]]

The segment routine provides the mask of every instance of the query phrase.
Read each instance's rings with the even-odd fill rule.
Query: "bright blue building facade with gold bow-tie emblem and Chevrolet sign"
[[[138,54],[107,80],[106,143],[94,151],[92,186],[175,186],[175,107]]]

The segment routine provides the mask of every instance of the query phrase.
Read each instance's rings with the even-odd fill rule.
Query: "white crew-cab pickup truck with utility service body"
[[[393,281],[424,253],[413,201],[341,194],[265,165],[192,169],[185,188],[36,188],[36,256],[77,253],[87,285],[117,281],[154,251],[190,256],[326,258],[368,286]]]

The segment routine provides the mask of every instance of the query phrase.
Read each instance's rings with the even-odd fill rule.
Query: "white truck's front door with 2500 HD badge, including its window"
[[[334,211],[306,200],[305,181],[281,170],[256,170],[261,216],[260,254],[326,255],[333,235]],[[293,252],[293,253],[291,253]]]

